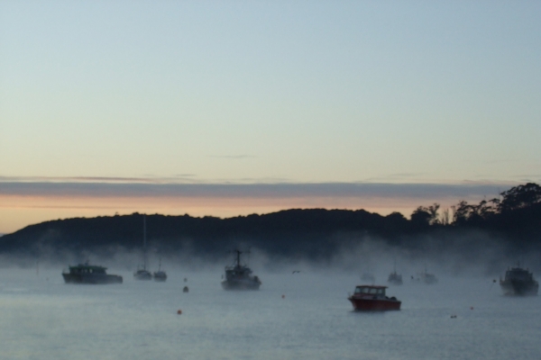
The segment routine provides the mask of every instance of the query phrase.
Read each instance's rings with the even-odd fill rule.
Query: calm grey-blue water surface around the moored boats
[[[3,270],[0,359],[541,358],[541,298],[503,297],[491,279],[406,282],[388,289],[401,311],[358,313],[346,300],[358,275],[258,272],[260,291],[225,292],[219,272],[110,273],[124,284]]]

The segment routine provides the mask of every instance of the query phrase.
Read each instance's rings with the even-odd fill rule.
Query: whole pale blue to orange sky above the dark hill
[[[405,215],[541,180],[538,1],[0,2],[0,233]]]

